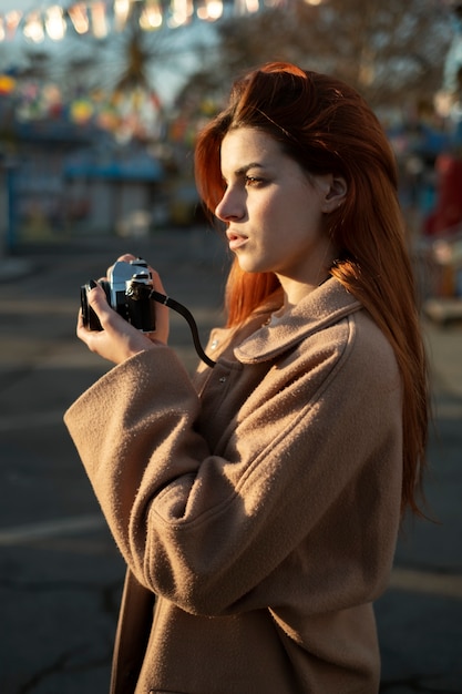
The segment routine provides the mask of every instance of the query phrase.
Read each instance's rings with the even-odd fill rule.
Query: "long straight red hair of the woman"
[[[327,233],[340,261],[331,275],[371,314],[393,347],[403,384],[402,510],[418,512],[428,432],[428,378],[398,173],[384,132],[358,92],[326,74],[269,63],[237,81],[229,105],[199,134],[195,170],[213,213],[223,197],[220,145],[229,130],[266,132],[308,174],[347,182]],[[279,286],[273,273],[245,273],[234,261],[226,288],[228,326],[244,322]]]

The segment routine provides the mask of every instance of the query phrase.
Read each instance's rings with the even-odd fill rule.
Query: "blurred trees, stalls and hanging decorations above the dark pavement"
[[[195,133],[237,74],[279,59],[356,86],[399,159],[410,232],[452,231],[461,22],[451,0],[2,0],[3,253],[201,221]]]

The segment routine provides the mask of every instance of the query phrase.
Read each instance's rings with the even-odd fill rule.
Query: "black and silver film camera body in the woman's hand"
[[[109,272],[107,279],[99,284],[105,292],[107,304],[127,323],[143,333],[155,330],[154,302],[150,298],[153,279],[145,261],[117,261]],[[90,330],[101,330],[101,323],[86,299],[89,288],[88,283],[80,290],[83,325]]]

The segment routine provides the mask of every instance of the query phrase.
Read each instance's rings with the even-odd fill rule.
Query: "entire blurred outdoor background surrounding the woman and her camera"
[[[75,339],[79,287],[138,254],[206,340],[229,258],[195,135],[273,60],[356,86],[396,152],[437,522],[407,523],[377,605],[381,692],[462,694],[462,2],[0,0],[1,694],[107,691],[124,568],[62,423],[109,368]],[[171,341],[192,370],[178,316]]]

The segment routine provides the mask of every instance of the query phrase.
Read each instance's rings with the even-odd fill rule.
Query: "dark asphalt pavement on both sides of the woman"
[[[125,251],[160,269],[205,343],[228,263],[212,231],[52,239],[0,258],[0,694],[107,692],[124,565],[62,415],[110,368],[75,338],[80,285]],[[462,324],[423,328],[435,409],[425,492],[437,522],[405,522],[376,605],[383,694],[462,694]],[[193,369],[177,315],[171,344]]]

